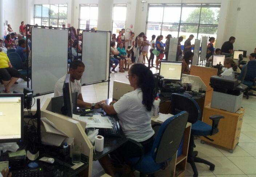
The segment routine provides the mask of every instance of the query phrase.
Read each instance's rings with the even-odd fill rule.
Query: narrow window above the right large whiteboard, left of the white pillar
[[[80,4],[79,28],[80,29],[97,29],[98,5],[97,4]]]

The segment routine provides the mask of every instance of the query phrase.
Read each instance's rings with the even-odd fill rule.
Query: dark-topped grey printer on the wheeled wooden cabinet
[[[212,76],[210,86],[213,88],[211,107],[229,112],[236,112],[242,104],[243,91],[247,86],[229,76]]]

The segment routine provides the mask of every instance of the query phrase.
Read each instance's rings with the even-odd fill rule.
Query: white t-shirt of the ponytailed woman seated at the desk
[[[151,127],[153,111],[147,111],[142,104],[140,88],[124,94],[113,106],[127,138],[141,142],[154,135]]]

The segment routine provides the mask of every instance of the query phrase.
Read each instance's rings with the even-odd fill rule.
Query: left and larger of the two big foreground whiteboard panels
[[[54,91],[67,74],[68,30],[32,28],[32,83],[34,94]]]

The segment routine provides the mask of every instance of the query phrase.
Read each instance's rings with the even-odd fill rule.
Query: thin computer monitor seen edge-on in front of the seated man
[[[65,78],[65,82],[63,84],[63,98],[64,98],[64,109],[65,115],[72,118],[73,113],[73,102],[72,102],[72,89],[70,83],[70,75],[67,74]]]

